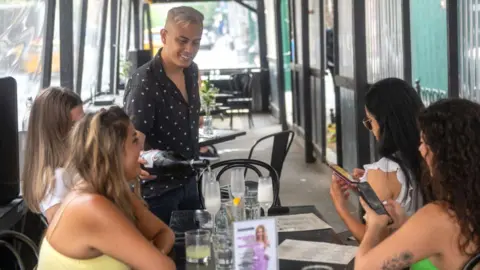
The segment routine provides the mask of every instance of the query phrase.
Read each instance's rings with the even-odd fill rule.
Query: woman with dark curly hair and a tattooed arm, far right
[[[463,269],[480,253],[480,105],[438,101],[418,122],[419,150],[430,173],[421,183],[432,202],[408,220],[398,203],[388,202],[387,210],[401,227],[381,243],[378,235],[388,217],[362,202],[368,226],[355,269],[403,269],[426,258],[438,269]]]

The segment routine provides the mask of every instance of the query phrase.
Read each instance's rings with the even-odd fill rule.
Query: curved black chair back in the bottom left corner
[[[30,238],[16,231],[0,231],[0,246],[5,247],[13,254],[16,260],[16,264],[20,270],[24,270],[27,268],[25,267],[25,263],[21,258],[21,252],[19,251],[20,248],[16,249],[12,244],[12,240],[20,241],[22,244],[26,244],[33,252],[35,258],[38,261],[38,246]]]

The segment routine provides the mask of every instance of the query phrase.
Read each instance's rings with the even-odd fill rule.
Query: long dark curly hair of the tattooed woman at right
[[[419,115],[422,138],[432,155],[425,193],[453,211],[465,239],[462,252],[480,251],[480,104],[465,99],[441,100]],[[476,250],[469,253],[470,243]]]

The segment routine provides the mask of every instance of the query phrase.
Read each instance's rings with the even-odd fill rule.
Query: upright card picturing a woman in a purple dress
[[[235,270],[277,270],[277,230],[274,218],[233,223]]]

